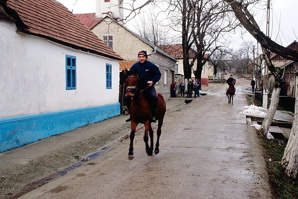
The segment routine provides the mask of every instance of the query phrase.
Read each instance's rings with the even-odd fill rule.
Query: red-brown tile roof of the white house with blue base
[[[7,0],[6,5],[13,10],[10,14],[16,20],[19,32],[81,51],[123,60],[56,0]]]

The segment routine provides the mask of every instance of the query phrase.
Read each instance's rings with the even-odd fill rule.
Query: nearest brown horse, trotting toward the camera
[[[139,88],[139,77],[134,72],[130,72],[126,70],[127,78],[125,80],[126,87],[126,95],[125,98],[131,100],[130,105],[130,116],[131,116],[131,134],[130,134],[130,147],[129,147],[129,159],[132,160],[134,158],[134,147],[133,142],[135,138],[136,128],[139,123],[143,123],[145,125],[145,134],[144,141],[146,144],[146,152],[149,156],[153,154],[153,129],[151,127],[151,108],[149,101],[145,98],[144,90],[140,90]],[[163,122],[163,117],[165,114],[165,101],[161,94],[157,93],[158,101],[156,108],[155,118],[158,120],[157,127],[157,140],[155,144],[154,153],[159,153],[159,137],[161,135],[161,126]],[[148,145],[148,133],[150,136],[150,147]]]

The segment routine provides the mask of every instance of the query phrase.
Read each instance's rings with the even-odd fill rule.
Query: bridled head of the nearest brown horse
[[[128,71],[127,69],[125,69],[125,74],[127,76],[125,80],[125,98],[130,99],[138,92],[139,77],[136,71]]]

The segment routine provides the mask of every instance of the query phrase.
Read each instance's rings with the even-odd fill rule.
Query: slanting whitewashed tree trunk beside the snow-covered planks
[[[271,122],[273,120],[273,117],[275,115],[275,111],[277,109],[278,102],[279,102],[280,93],[281,93],[281,88],[280,87],[273,89],[272,96],[271,96],[271,103],[270,103],[270,106],[269,106],[269,109],[268,109],[268,113],[265,116],[264,121],[263,121],[263,123],[261,125],[261,128],[260,128],[260,132],[265,137],[267,137],[269,127],[270,127]]]

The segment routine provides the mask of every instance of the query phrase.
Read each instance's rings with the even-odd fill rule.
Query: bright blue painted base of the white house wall
[[[0,153],[120,114],[120,103],[0,119]]]

